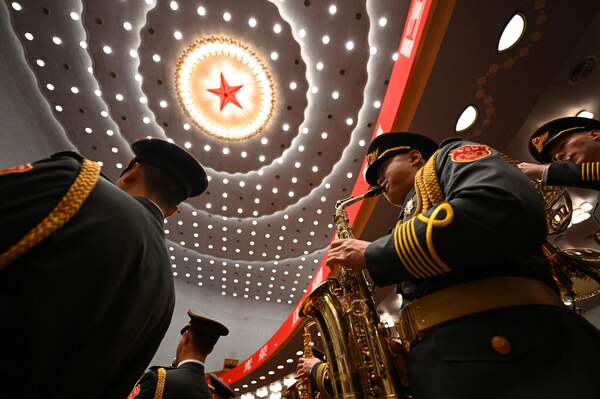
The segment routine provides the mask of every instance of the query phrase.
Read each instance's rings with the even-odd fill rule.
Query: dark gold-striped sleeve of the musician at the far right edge
[[[600,162],[552,163],[546,180],[551,186],[591,188],[600,191]]]

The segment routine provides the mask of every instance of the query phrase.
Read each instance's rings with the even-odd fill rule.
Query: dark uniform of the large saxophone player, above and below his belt
[[[367,247],[376,285],[399,284],[406,302],[500,276],[538,280],[557,292],[540,248],[546,236],[541,198],[525,175],[495,150],[466,141],[444,145],[435,172],[438,200],[422,211],[410,193],[403,220]],[[503,353],[493,337],[508,343]],[[592,325],[540,305],[447,321],[408,353],[417,399],[598,398],[598,358],[600,336]]]

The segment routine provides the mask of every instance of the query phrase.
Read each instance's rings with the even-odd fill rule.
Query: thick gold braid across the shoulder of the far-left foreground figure
[[[84,159],[77,178],[54,209],[19,242],[0,255],[0,271],[65,225],[85,202],[100,177],[100,165]]]

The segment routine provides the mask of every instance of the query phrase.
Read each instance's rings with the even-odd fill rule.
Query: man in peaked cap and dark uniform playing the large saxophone
[[[376,137],[367,163],[403,213],[373,242],[334,241],[327,264],[399,285],[414,397],[600,397],[600,335],[560,300],[529,179],[486,145],[404,132]]]

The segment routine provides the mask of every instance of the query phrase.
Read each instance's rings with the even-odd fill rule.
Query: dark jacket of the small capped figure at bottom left
[[[152,367],[134,387],[129,399],[154,399],[158,369]],[[204,366],[184,363],[178,368],[164,367],[165,386],[162,399],[210,399],[211,394],[204,378]]]

